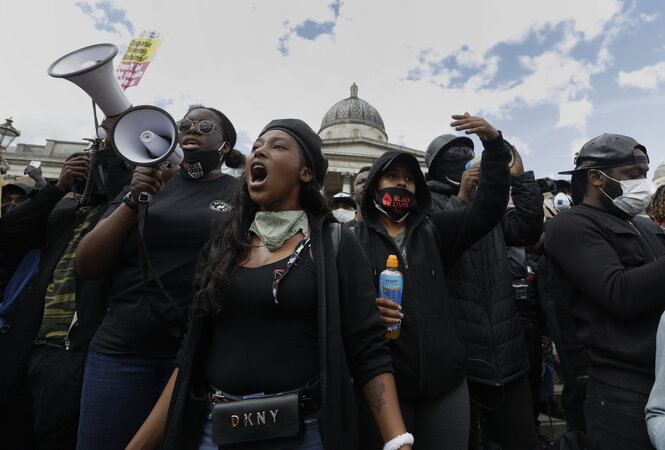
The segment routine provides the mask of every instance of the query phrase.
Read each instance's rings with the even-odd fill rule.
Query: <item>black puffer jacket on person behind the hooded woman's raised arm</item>
[[[468,204],[456,195],[456,187],[439,181],[430,181],[428,186],[434,198],[432,211]],[[538,241],[543,199],[531,171],[511,177],[511,186],[515,207],[460,255],[448,273],[466,345],[467,376],[483,384],[502,385],[529,369],[506,245],[525,246]]]

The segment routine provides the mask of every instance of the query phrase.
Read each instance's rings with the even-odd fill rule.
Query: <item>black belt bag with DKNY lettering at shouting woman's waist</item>
[[[212,441],[224,449],[269,449],[299,443],[308,400],[303,391],[229,400],[212,395]],[[221,401],[219,401],[221,400]]]

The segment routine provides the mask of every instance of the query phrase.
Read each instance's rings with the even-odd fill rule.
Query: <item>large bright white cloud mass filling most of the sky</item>
[[[7,47],[16,53],[3,70],[3,84],[12,89],[3,91],[0,120],[14,116],[23,131],[18,142],[89,136],[89,99],[74,85],[49,78],[46,68],[97,42],[112,42],[122,51],[132,37],[123,26],[96,29],[75,1],[10,2],[3,9],[12,18],[3,29]],[[330,2],[199,0],[183,7],[173,0],[110,1],[126,11],[137,33],[154,29],[164,38],[141,84],[127,96],[137,105],[172,101],[167,109],[176,118],[192,103],[217,107],[250,142],[277,117],[300,117],[317,130],[354,81],[360,97],[381,113],[391,142],[400,136],[414,148],[424,149],[448,132],[450,115],[464,111],[493,121],[521,108],[553,106],[558,126],[575,131],[583,129],[585,111],[592,108],[593,75],[612,64],[610,44],[627,26],[619,0],[346,0],[334,36],[308,40],[291,33],[289,55],[283,56],[279,38],[308,19],[334,20]],[[563,31],[559,42],[524,56],[523,74],[496,85],[501,61],[490,49],[522,43],[534,33],[546,42],[553,30]],[[594,40],[603,41],[596,55],[574,54],[576,45]],[[457,67],[433,73],[430,63],[447,56],[456,58]],[[415,68],[419,76],[406,80]],[[575,120],[567,118],[571,113]],[[549,120],[557,123],[557,117]],[[522,141],[521,149],[540,150]]]

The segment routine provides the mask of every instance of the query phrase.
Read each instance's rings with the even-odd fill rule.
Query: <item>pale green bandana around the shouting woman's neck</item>
[[[292,238],[298,231],[304,234],[309,230],[307,213],[298,211],[258,211],[249,231],[254,233],[274,252]]]

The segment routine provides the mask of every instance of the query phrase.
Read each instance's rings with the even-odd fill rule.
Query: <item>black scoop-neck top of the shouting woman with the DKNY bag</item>
[[[305,249],[280,281],[275,303],[272,282],[287,260],[231,273],[224,307],[212,322],[205,363],[210,385],[235,395],[270,394],[318,376],[314,262]]]

